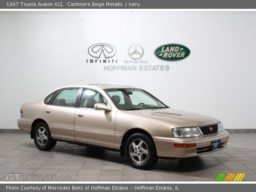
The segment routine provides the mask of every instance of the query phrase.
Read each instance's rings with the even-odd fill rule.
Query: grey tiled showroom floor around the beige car
[[[118,152],[65,142],[43,152],[28,134],[0,132],[0,180],[6,181],[11,173],[41,179],[77,175],[78,181],[214,181],[218,173],[234,172],[245,173],[244,181],[256,181],[255,146],[256,133],[231,133],[225,150],[188,159],[160,159],[145,171],[132,168]]]

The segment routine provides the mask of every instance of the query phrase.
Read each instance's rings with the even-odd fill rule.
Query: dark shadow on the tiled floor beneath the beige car
[[[77,146],[71,144],[59,144],[56,146],[58,153],[72,153],[72,156],[90,158],[91,160],[104,161],[104,164],[123,164],[126,167],[131,167],[130,162],[126,157],[120,156],[119,152],[105,150],[94,146]],[[207,169],[199,156],[192,158],[178,158],[178,159],[159,159],[156,165],[148,169],[153,172],[195,172]]]

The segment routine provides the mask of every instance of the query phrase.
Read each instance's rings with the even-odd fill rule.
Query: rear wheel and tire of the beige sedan
[[[34,142],[42,151],[51,150],[56,145],[56,140],[52,139],[48,126],[43,122],[38,123],[34,129]]]

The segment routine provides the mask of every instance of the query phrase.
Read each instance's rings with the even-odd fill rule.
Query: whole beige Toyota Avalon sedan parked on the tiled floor
[[[20,110],[18,126],[40,150],[56,141],[118,150],[134,168],[227,147],[228,132],[209,116],[169,108],[148,92],[106,84],[58,88]]]

